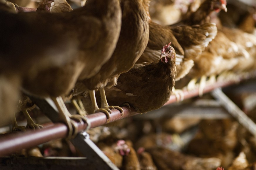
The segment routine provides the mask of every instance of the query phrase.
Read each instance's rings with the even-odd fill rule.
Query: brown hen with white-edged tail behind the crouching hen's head
[[[172,41],[177,54],[176,80],[179,80],[189,72],[194,64],[193,59],[201,54],[216,33],[217,28],[213,23],[162,26],[149,20],[149,42],[137,63],[155,61],[160,55],[160,45]]]

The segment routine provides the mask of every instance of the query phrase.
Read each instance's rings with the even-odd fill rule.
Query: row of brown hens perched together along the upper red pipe
[[[148,112],[172,93],[182,100],[181,88],[199,82],[202,94],[256,69],[256,9],[239,1],[87,0],[74,10],[65,0],[12,2],[0,0],[0,125],[12,119],[13,130],[25,130],[19,111],[28,127],[42,127],[29,96],[52,100],[70,137],[87,113]]]

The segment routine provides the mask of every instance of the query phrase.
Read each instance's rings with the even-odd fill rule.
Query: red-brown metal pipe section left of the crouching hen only
[[[121,117],[121,113],[116,109],[112,110],[110,114],[110,122],[130,117],[139,113],[136,113],[133,108],[131,110],[128,107],[122,107],[124,115]],[[88,121],[91,124],[91,128],[98,127],[106,124],[106,115],[104,113],[94,113],[88,115]],[[87,124],[77,124],[78,131],[82,132],[87,129]],[[15,153],[21,149],[30,148],[39,144],[67,137],[67,126],[63,123],[49,123],[44,125],[43,129],[28,130],[27,132],[11,132],[0,135],[0,156],[9,155]]]

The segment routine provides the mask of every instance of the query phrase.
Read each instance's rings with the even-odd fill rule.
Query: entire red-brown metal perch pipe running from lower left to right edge
[[[255,74],[253,74],[254,77]],[[250,78],[250,77],[249,77]],[[240,80],[247,80],[248,77],[242,77]],[[204,88],[204,93],[211,92],[212,90],[218,87],[226,87],[232,84],[238,83],[237,81],[227,81],[227,82],[217,82],[214,85],[208,85]],[[184,91],[184,99],[188,99],[191,97],[198,96],[198,89],[193,90],[191,92]],[[170,97],[170,100],[165,104],[171,104],[176,102],[177,99],[175,95]],[[124,115],[121,117],[121,113],[116,110],[111,110],[110,114],[110,122],[114,122],[116,120],[120,120],[126,117],[130,117],[133,115],[137,115],[140,113],[136,113],[133,108],[129,109],[128,107],[122,107],[124,110]],[[46,113],[46,115],[49,113]],[[104,113],[94,113],[87,116],[87,123],[80,124],[78,123],[78,132],[82,132],[85,129],[98,127],[106,124],[106,115]],[[89,127],[88,127],[89,125]],[[255,134],[255,133],[253,133]],[[7,134],[0,135],[0,156],[1,155],[9,155],[21,149],[30,148],[32,146],[37,146],[39,144],[67,137],[67,127],[63,123],[51,123],[49,126],[44,126],[43,129],[37,130],[28,130],[26,133],[24,132],[11,132]]]

